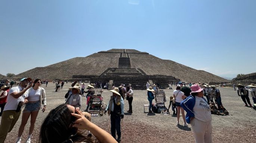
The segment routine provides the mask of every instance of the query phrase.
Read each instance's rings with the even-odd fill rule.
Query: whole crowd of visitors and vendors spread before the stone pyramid
[[[56,91],[59,91],[59,88],[62,89],[64,83],[64,81],[57,81]],[[42,112],[46,110],[46,91],[41,87],[41,84],[41,79],[32,80],[31,78],[22,78],[18,86],[12,87],[10,84],[7,84],[1,87],[1,91],[3,92],[0,95],[0,143],[4,143],[7,133],[13,129],[18,121],[21,111],[21,124],[15,143],[21,143],[21,136],[29,117],[30,127],[25,143],[31,143],[31,136],[37,115],[40,110]],[[176,89],[170,96],[167,113],[169,113],[169,109],[172,107],[173,115],[177,117],[177,125],[180,125],[180,113],[182,114],[184,126],[187,127],[188,124],[191,124],[196,143],[211,143],[212,116],[209,104],[214,101],[210,92],[214,93],[215,103],[218,105],[218,110],[220,110],[223,106],[219,89],[209,84],[173,82],[171,86],[173,85],[176,85]],[[109,85],[104,86],[107,88]],[[93,88],[97,87],[102,88],[101,82],[99,82],[99,84],[89,84],[87,87],[84,82],[72,82],[71,87],[65,94],[65,103],[52,109],[44,119],[40,129],[39,142],[120,142],[121,120],[124,118],[124,99],[126,99],[129,104],[127,113],[133,113],[132,85],[129,84],[125,86],[121,84],[115,87],[115,85],[112,84],[112,90],[109,90],[112,92],[112,95],[105,108],[104,114],[108,113],[110,116],[111,134],[90,122],[91,115],[87,112],[90,107],[90,97],[95,94]],[[242,98],[245,106],[252,107],[249,94],[252,96],[253,103],[256,105],[256,86],[254,84],[249,85],[249,89],[241,84],[238,84],[237,87],[237,94]],[[86,91],[84,91],[85,88],[87,89]],[[154,83],[149,84],[149,82],[147,82],[146,90],[149,101],[149,114],[152,114],[152,101],[155,99],[155,91],[160,90],[159,85]],[[82,96],[87,98],[87,107],[84,109],[84,112],[80,111],[83,104]],[[184,110],[186,111],[186,115]],[[89,134],[86,136],[83,130],[88,130],[89,134],[94,134],[96,139],[93,140]]]

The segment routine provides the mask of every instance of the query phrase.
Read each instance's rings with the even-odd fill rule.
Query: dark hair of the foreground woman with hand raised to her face
[[[72,139],[73,143],[84,141],[94,143],[91,139],[87,139],[85,134],[80,131],[75,134],[77,128],[71,127],[71,117],[73,116],[71,116],[71,111],[66,104],[61,104],[52,109],[43,121],[38,143],[62,143],[68,139]],[[74,134],[75,136],[71,137]]]

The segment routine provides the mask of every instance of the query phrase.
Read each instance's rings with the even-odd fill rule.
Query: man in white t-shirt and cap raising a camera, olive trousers
[[[28,96],[27,90],[32,87],[32,84],[28,84],[30,81],[31,78],[22,78],[19,86],[12,87],[8,92],[7,102],[1,117],[0,143],[4,143],[7,133],[12,131],[18,121],[22,105],[28,103],[25,98]]]

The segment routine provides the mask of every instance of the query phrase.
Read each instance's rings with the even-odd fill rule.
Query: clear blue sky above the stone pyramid
[[[0,74],[136,49],[215,75],[256,72],[255,0],[1,0]],[[253,62],[254,61],[254,62]]]

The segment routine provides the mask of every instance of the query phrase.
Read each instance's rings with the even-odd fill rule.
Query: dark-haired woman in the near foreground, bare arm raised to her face
[[[44,119],[39,135],[39,143],[117,143],[105,130],[96,126],[71,105],[61,104],[50,111]],[[86,136],[89,130],[96,139]]]

